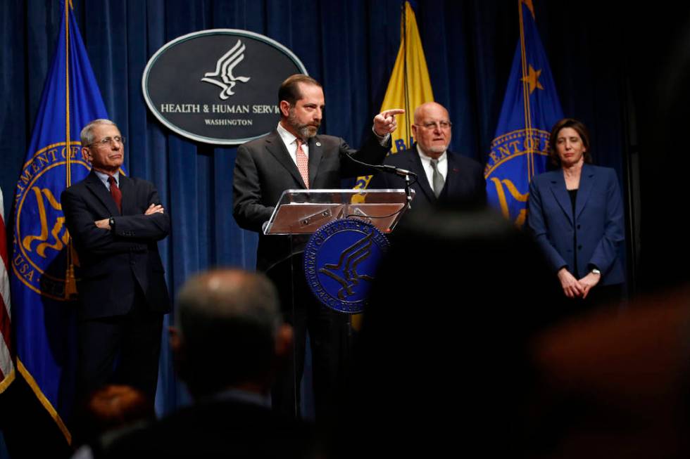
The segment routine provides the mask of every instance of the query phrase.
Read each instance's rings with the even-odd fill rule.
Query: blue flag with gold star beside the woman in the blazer
[[[489,204],[522,226],[529,181],[546,170],[549,132],[563,118],[563,110],[539,39],[532,0],[519,0],[518,7],[520,40],[484,177]]]

